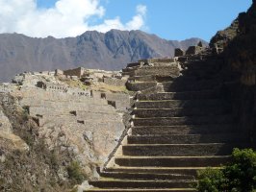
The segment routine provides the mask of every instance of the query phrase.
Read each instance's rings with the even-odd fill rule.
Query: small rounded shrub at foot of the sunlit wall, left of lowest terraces
[[[66,168],[68,178],[73,184],[79,184],[86,180],[86,174],[77,161],[72,161]]]

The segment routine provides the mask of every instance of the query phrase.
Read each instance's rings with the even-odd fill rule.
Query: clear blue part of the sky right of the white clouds
[[[198,36],[209,40],[245,12],[251,0],[109,0],[106,15],[128,19],[138,3],[147,7],[149,33],[166,39]]]

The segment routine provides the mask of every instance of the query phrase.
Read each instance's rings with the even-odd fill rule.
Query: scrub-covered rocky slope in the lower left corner
[[[64,164],[72,158],[56,147],[49,150],[37,124],[9,94],[0,94],[0,191],[64,191]],[[3,123],[5,122],[5,123]]]

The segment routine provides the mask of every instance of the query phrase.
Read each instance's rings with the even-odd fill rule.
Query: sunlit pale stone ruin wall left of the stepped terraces
[[[83,78],[89,77],[86,85]],[[18,98],[17,105],[38,124],[39,137],[48,148],[68,152],[93,178],[125,130],[123,116],[130,96],[123,82],[118,72],[84,68],[24,72],[13,78],[13,84],[0,84],[0,96]],[[13,135],[1,108],[0,138],[24,143]]]

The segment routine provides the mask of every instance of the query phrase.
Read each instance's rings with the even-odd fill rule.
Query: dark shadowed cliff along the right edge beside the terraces
[[[223,94],[232,101],[239,129],[256,146],[256,2],[227,29],[218,32],[211,46],[223,48]]]

